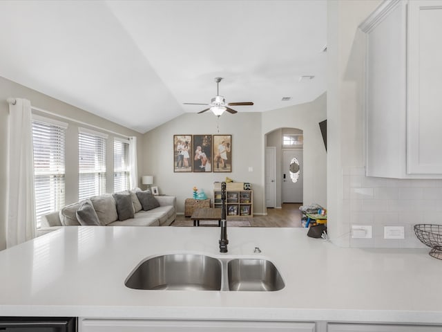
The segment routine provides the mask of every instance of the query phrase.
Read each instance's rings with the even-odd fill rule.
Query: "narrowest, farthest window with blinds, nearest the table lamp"
[[[115,138],[113,141],[113,190],[122,192],[130,189],[131,167],[129,141]]]

